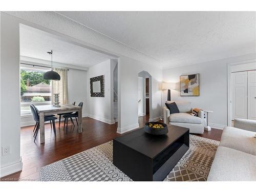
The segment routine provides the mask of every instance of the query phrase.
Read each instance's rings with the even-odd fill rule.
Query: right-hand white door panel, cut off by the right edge
[[[248,119],[256,120],[256,71],[248,71]]]

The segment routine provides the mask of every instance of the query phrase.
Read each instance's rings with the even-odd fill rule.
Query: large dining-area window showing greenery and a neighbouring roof
[[[20,113],[31,114],[30,104],[51,103],[51,80],[43,78],[48,70],[20,67]]]

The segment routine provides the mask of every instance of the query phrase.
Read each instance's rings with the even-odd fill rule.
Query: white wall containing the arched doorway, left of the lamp
[[[162,115],[162,70],[140,61],[118,58],[118,133],[139,127],[138,124],[138,74],[147,71],[152,75],[152,119]]]

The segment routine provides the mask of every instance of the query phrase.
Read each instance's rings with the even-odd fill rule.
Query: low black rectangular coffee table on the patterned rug
[[[113,140],[113,163],[134,181],[163,181],[189,148],[189,129],[168,125],[166,135],[143,128]]]

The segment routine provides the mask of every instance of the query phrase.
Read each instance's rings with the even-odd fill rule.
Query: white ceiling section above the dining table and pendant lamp
[[[79,67],[91,67],[110,58],[93,50],[89,50],[47,32],[20,25],[20,55],[42,60],[51,60],[47,53],[53,50],[53,61]]]

